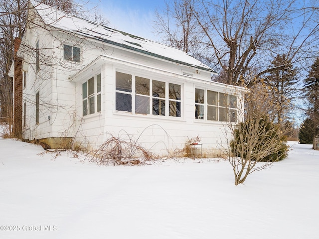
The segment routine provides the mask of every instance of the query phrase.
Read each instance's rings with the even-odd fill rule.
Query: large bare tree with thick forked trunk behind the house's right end
[[[285,69],[286,63],[305,63],[316,52],[319,31],[317,1],[173,2],[174,5],[169,8],[171,15],[179,15],[180,10],[187,7],[193,16],[186,18],[186,22],[187,19],[196,19],[196,23],[192,24],[193,29],[201,29],[200,41],[196,42],[201,46],[197,48],[206,49],[208,54],[212,52],[213,58],[210,59],[218,65],[218,70],[226,73],[228,84],[240,85],[245,82],[252,85],[267,72]],[[167,39],[174,40],[177,31],[168,30],[170,19],[163,20],[165,18],[159,20],[162,25],[158,27],[159,32],[164,32]],[[174,27],[179,29],[181,25],[175,23]],[[179,31],[179,37],[185,33],[187,31]],[[167,37],[167,34],[171,37]],[[267,62],[277,54],[285,54],[287,62],[273,68],[268,67]]]

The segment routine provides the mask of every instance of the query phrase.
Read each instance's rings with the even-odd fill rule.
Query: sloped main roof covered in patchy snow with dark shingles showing
[[[158,57],[178,64],[214,72],[210,67],[191,57],[187,53],[155,41],[115,30],[96,22],[72,16],[48,5],[30,0],[44,23],[64,31],[100,40],[118,47],[123,47],[150,56]]]

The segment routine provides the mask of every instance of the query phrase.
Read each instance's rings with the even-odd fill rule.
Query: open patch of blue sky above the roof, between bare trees
[[[155,9],[163,8],[165,0],[90,0],[110,21],[110,27],[150,40],[154,34]]]

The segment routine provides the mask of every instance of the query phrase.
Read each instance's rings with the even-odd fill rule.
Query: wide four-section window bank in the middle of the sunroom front
[[[115,109],[133,114],[181,117],[181,85],[116,72]]]

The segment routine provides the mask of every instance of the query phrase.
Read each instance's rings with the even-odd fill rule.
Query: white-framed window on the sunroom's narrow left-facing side
[[[93,89],[89,90],[89,84],[92,85],[93,82]],[[99,84],[98,84],[99,83]],[[85,86],[85,92],[84,92]],[[101,73],[96,73],[87,79],[85,82],[81,84],[81,91],[82,91],[82,116],[92,116],[98,115],[102,112],[102,80],[101,80]],[[85,102],[85,103],[84,103]],[[93,103],[93,108],[92,108]],[[93,110],[93,112],[91,112]]]

